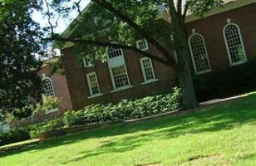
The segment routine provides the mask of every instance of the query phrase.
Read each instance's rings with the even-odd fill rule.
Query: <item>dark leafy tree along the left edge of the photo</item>
[[[21,111],[29,98],[41,92],[37,70],[42,61],[41,27],[32,21],[34,10],[42,2],[31,0],[0,0],[0,111],[17,118],[31,113]]]

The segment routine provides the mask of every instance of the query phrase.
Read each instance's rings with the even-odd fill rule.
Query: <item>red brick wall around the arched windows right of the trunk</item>
[[[231,19],[231,22],[237,23],[240,27],[248,60],[255,60],[255,9],[256,3],[186,24],[188,37],[192,33],[191,30],[193,28],[196,32],[199,32],[204,36],[209,55],[209,62],[213,72],[222,71],[230,65],[223,35],[223,28],[227,24],[228,18]]]

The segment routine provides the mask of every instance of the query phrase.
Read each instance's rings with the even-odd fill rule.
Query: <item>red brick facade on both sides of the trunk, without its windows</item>
[[[186,23],[186,32],[188,37],[190,36],[192,29],[195,29],[196,32],[199,32],[204,36],[212,71],[201,76],[210,76],[230,67],[229,56],[223,35],[223,27],[226,25],[228,18],[231,22],[238,24],[240,27],[248,61],[255,60],[255,9],[256,3],[253,3],[228,12],[221,12],[210,17]],[[150,46],[149,51],[156,55],[160,55],[153,46]],[[64,68],[66,71],[67,87],[70,94],[71,105],[74,110],[81,109],[82,107],[93,103],[115,103],[122,99],[139,98],[145,95],[160,93],[170,90],[177,82],[175,72],[169,66],[152,61],[155,76],[159,81],[155,81],[154,83],[147,85],[141,85],[144,81],[140,67],[141,56],[132,51],[124,51],[130,85],[133,85],[133,87],[126,90],[111,92],[111,90],[113,90],[113,85],[106,62],[103,63],[101,61],[96,61],[94,67],[84,68],[78,61],[76,61],[76,56],[72,51],[72,47],[63,49],[62,54],[64,54]],[[192,70],[194,71],[193,68]],[[86,74],[94,71],[96,72],[101,93],[103,95],[89,99],[90,94],[86,81]],[[65,93],[67,93],[67,91]]]

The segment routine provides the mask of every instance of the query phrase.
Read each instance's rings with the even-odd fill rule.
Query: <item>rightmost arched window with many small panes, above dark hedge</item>
[[[223,30],[226,48],[231,66],[247,61],[240,28],[235,23],[228,23]]]

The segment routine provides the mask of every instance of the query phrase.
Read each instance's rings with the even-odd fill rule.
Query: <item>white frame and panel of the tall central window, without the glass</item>
[[[110,58],[108,49],[109,49],[109,47],[106,47],[106,59],[107,59],[109,71],[111,73],[111,82],[112,82],[112,85],[113,85],[113,90],[111,90],[111,92],[116,92],[116,91],[119,91],[119,90],[126,90],[126,89],[129,89],[129,88],[132,88],[133,85],[130,85],[130,78],[129,78],[129,74],[127,72],[126,61],[125,61],[125,57],[124,57],[124,51],[121,49],[121,56],[116,56],[116,57]],[[116,83],[115,83],[115,79],[114,79],[114,76],[113,76],[113,72],[112,72],[111,69],[113,67],[122,66],[122,65],[125,66],[125,70],[126,70],[126,74],[127,74],[127,78],[128,78],[128,85],[117,88]]]

